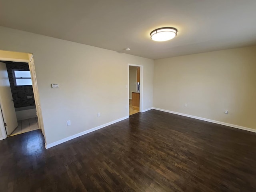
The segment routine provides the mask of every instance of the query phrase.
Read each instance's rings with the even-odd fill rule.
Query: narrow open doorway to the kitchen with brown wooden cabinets
[[[128,64],[129,76],[129,116],[142,112],[143,66]]]

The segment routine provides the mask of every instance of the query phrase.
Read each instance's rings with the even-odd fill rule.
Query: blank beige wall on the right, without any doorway
[[[256,129],[256,46],[155,60],[153,106]]]

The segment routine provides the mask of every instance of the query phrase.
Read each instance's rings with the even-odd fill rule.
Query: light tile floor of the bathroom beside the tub
[[[39,129],[37,118],[25,119],[18,121],[18,127],[9,136],[14,136],[37,129]]]

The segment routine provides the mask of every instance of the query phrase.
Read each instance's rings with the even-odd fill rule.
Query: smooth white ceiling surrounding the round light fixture
[[[256,1],[0,0],[0,25],[158,59],[255,45]],[[152,41],[164,26],[177,36]]]

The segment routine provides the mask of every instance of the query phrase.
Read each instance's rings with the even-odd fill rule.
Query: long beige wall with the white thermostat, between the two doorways
[[[33,53],[47,144],[128,116],[128,64],[144,66],[152,107],[153,60],[4,27],[1,49]]]

